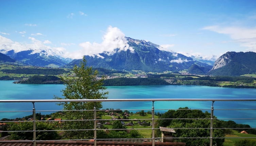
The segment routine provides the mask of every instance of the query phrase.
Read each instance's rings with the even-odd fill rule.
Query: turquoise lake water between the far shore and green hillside
[[[13,84],[13,81],[0,81],[0,99],[53,99],[61,97],[64,85]],[[112,86],[107,87],[109,99],[141,98],[256,98],[255,89],[221,88],[208,86]],[[155,109],[210,109],[211,102],[155,102]],[[151,109],[152,102],[106,102],[103,108],[114,109]],[[32,110],[32,103],[0,103],[0,111]],[[36,110],[60,110],[55,103],[35,103]],[[215,109],[256,109],[256,102],[215,102]],[[156,112],[158,112],[156,110]],[[160,111],[163,112],[163,111]],[[49,112],[41,112],[47,114]],[[1,118],[16,118],[30,115],[31,112],[1,112]],[[256,118],[255,110],[215,110],[218,118]],[[256,127],[256,120],[233,120],[237,123]]]

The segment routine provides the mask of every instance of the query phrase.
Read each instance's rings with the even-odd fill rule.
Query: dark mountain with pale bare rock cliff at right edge
[[[255,52],[227,52],[214,63],[209,75],[239,76],[256,73]]]

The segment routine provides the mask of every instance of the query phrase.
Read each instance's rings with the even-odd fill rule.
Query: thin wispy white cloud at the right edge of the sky
[[[256,52],[256,28],[241,28],[235,26],[221,27],[219,25],[206,26],[203,30],[217,32],[219,34],[228,35],[241,47],[248,48],[248,51]]]

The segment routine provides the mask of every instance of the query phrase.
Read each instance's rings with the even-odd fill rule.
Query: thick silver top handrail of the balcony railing
[[[246,99],[189,99],[189,98],[172,98],[172,99],[37,99],[37,100],[0,100],[0,103],[39,103],[39,102],[145,102],[145,101],[256,101],[253,98]]]

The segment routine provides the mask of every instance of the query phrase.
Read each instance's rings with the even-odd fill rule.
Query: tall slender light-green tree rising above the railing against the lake
[[[72,69],[74,77],[61,77],[66,88],[62,90],[64,98],[56,99],[106,99],[106,89],[103,87],[104,77],[98,79],[98,71],[86,66],[86,60],[80,63],[80,67]],[[58,105],[63,110],[93,110],[102,108],[101,102],[64,102]],[[103,112],[97,112],[97,119],[101,118]],[[93,111],[65,111],[63,116],[68,120],[92,120]],[[93,121],[65,121],[63,129],[93,129]],[[93,138],[92,130],[65,131],[69,139],[90,139]]]

